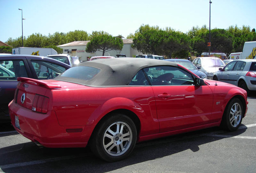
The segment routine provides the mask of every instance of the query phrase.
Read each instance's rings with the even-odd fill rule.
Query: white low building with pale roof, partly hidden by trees
[[[71,56],[78,56],[79,60],[89,60],[91,56],[102,56],[102,52],[96,51],[93,53],[85,52],[86,45],[89,41],[74,41],[67,44],[59,45],[58,47],[63,49],[64,54],[70,54]],[[105,52],[105,56],[115,56],[116,54],[126,54],[126,57],[135,57],[136,54],[141,54],[138,50],[132,48],[132,39],[123,39],[124,46],[120,50],[111,50]]]

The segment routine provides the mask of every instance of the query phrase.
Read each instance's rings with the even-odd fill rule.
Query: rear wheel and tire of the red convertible
[[[123,114],[115,114],[99,123],[90,146],[99,158],[113,162],[128,157],[134,149],[136,139],[134,122]]]

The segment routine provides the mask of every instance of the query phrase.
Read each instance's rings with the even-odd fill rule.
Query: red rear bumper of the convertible
[[[13,127],[21,135],[44,147],[85,147],[94,129],[87,125],[60,126],[55,111],[36,113],[14,102],[9,104],[9,113]],[[20,128],[15,125],[15,116],[19,118]],[[81,131],[73,132],[74,129]]]

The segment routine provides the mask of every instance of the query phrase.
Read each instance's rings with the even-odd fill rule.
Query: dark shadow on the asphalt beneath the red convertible
[[[17,171],[26,173],[45,173],[46,171],[105,173],[137,163],[170,156],[187,149],[197,152],[200,150],[200,145],[212,143],[224,138],[213,137],[211,134],[236,136],[241,135],[245,131],[246,128],[239,129],[235,132],[228,132],[214,127],[182,135],[145,141],[137,143],[134,151],[127,159],[115,163],[107,163],[98,159],[88,147],[39,149],[33,142],[28,142],[0,149],[0,158],[4,158],[0,159],[0,165],[2,165],[0,168],[2,171],[8,173],[17,173]],[[23,165],[23,163],[25,164]],[[29,165],[28,163],[31,164]]]

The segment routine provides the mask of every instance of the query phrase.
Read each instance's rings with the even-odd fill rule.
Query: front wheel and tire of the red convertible
[[[224,111],[221,127],[229,131],[235,131],[242,123],[243,113],[242,102],[237,98],[232,99]]]

